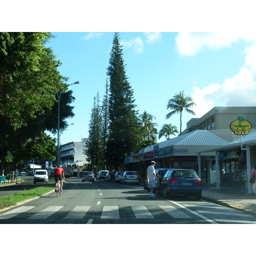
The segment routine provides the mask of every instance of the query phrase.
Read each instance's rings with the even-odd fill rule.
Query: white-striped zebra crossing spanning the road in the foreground
[[[212,205],[181,205],[177,202],[172,203],[180,208],[173,205],[158,205],[154,207],[144,205],[129,206],[131,211],[127,213],[127,216],[125,216],[124,213],[120,214],[120,210],[122,211],[122,207],[120,206],[96,206],[96,208],[95,206],[76,206],[69,210],[67,210],[64,206],[49,206],[38,211],[36,211],[37,207],[35,206],[21,206],[0,214],[0,223],[3,223],[2,221],[4,220],[12,219],[17,216],[19,218],[26,218],[28,221],[46,220],[54,216],[56,213],[60,213],[62,211],[60,218],[64,220],[89,219],[87,223],[93,223],[93,219],[97,218],[100,218],[101,220],[115,220],[122,218],[152,220],[160,218],[160,216],[163,218],[164,216],[166,219],[180,219],[187,220],[188,222],[192,222],[192,220],[195,218],[201,218],[209,221],[212,224],[217,224],[217,222],[256,224],[256,221],[254,221],[255,217],[248,215],[247,213],[232,211],[229,209],[223,211],[221,210],[221,208],[224,209],[223,207]],[[98,214],[94,214],[92,217],[92,212],[97,212]],[[131,214],[131,212],[133,214]]]

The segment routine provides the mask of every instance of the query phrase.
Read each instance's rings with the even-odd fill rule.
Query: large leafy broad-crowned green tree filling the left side
[[[67,90],[67,78],[58,72],[61,62],[46,46],[52,38],[48,32],[0,32],[0,175],[19,158],[29,157],[29,150],[23,149],[43,139],[45,129],[56,131],[56,92]],[[74,100],[70,92],[66,99]],[[73,115],[72,107],[66,110],[69,114],[63,118]],[[61,128],[65,126],[62,122]],[[30,148],[32,153],[36,147]],[[50,158],[52,147],[41,152]]]

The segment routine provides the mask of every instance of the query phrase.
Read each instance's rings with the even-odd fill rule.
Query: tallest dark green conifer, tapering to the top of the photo
[[[109,168],[117,169],[125,157],[137,148],[140,141],[138,112],[135,110],[133,90],[125,73],[119,33],[115,33],[107,75],[110,81],[110,134],[106,149]]]

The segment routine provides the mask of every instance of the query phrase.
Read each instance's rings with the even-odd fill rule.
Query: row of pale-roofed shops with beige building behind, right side
[[[230,130],[231,123],[241,117],[251,124],[244,137]],[[254,137],[256,107],[215,107],[201,118],[189,120],[180,136],[142,149],[140,159],[129,157],[125,161],[137,166],[143,163],[144,169],[151,160],[157,163],[155,168],[194,169],[204,184],[249,191],[247,180],[256,164]],[[247,148],[239,146],[243,143]]]

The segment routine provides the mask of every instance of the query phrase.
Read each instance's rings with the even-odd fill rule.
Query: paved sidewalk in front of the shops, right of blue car
[[[242,189],[215,186],[204,186],[202,199],[227,207],[232,207],[256,215],[256,199],[254,194],[248,194]]]

